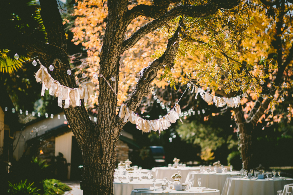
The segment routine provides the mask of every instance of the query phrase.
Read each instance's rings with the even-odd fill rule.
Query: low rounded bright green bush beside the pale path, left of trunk
[[[62,195],[64,191],[71,190],[68,185],[55,179],[43,180],[43,188],[44,195]]]

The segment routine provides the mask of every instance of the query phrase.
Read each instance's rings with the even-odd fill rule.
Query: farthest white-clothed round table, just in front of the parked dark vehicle
[[[173,168],[173,167],[154,167],[151,169],[153,172],[153,178],[156,179],[164,179],[164,177],[167,177],[167,180],[171,179],[171,176],[174,173],[178,173],[180,171],[180,175],[182,177],[181,182],[184,182],[188,173],[190,171],[199,171],[199,167],[178,167],[178,168]]]

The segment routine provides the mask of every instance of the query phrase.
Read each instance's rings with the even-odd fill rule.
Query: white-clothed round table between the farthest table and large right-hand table
[[[231,175],[238,175],[238,174],[240,174],[240,172],[236,172],[236,171],[232,171],[232,172],[229,171],[229,172],[223,172],[223,173],[216,173],[214,171],[212,172],[191,171],[188,173],[185,183],[188,183],[188,180],[194,177],[194,186],[198,187],[197,179],[201,178],[202,179],[201,187],[218,189],[220,190],[220,193],[221,193],[227,177],[230,177]]]

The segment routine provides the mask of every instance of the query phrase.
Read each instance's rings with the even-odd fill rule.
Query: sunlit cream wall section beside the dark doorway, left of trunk
[[[55,156],[61,152],[66,158],[67,163],[71,163],[71,143],[72,143],[72,132],[65,133],[61,136],[55,137]],[[70,165],[68,166],[67,179],[70,179]]]

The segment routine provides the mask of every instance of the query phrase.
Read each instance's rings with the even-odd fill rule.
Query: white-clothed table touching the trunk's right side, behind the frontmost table
[[[157,182],[159,184],[159,182]],[[113,193],[115,195],[130,195],[131,190],[136,188],[147,188],[153,186],[152,180],[142,180],[128,182],[127,180],[122,180],[122,183],[118,180],[114,180]]]

